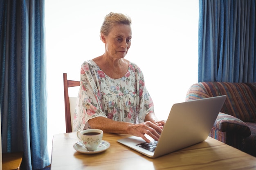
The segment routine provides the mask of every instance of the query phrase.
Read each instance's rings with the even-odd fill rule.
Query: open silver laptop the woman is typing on
[[[223,95],[174,104],[159,141],[146,135],[153,146],[136,136],[117,141],[150,158],[198,144],[207,139],[225,99]]]

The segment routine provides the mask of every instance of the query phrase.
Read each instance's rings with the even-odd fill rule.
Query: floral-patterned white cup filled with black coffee
[[[101,143],[103,131],[100,129],[79,130],[76,132],[76,135],[82,140],[83,145],[88,149],[88,151],[94,151],[97,150]]]

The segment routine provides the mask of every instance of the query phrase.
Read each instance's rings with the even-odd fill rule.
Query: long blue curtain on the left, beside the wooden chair
[[[24,152],[24,170],[50,164],[44,5],[44,0],[0,0],[2,152]]]

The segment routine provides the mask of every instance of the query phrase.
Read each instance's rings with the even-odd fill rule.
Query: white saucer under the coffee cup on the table
[[[80,141],[81,143],[83,143],[83,141]],[[110,143],[108,143],[107,141],[101,141],[101,144],[99,144],[99,147],[97,150],[92,150],[92,151],[88,151],[85,148],[83,148],[82,146],[79,146],[77,144],[73,145],[73,148],[80,153],[84,153],[84,154],[95,154],[95,153],[99,153],[99,152],[103,152],[105,150],[107,150],[110,147]]]

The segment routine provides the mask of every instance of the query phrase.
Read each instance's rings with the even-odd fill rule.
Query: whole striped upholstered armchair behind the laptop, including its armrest
[[[199,82],[186,101],[227,95],[210,136],[256,156],[256,83]]]

